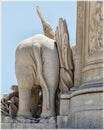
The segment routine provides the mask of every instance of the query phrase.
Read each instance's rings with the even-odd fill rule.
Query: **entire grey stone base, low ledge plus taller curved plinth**
[[[56,117],[31,118],[2,117],[2,129],[102,129],[103,87],[89,84],[62,94],[60,115]]]

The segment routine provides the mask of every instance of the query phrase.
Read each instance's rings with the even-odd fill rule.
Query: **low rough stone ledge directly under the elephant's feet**
[[[12,119],[7,116],[4,117],[1,123],[2,129],[56,129],[55,117],[50,118],[24,118],[17,117]]]

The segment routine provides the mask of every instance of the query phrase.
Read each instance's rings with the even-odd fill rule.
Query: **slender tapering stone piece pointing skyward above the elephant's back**
[[[41,22],[42,22],[44,35],[51,38],[51,39],[54,39],[55,33],[54,33],[51,25],[42,16],[38,6],[36,7],[36,11],[37,11],[37,13],[38,13],[38,15],[40,17]]]

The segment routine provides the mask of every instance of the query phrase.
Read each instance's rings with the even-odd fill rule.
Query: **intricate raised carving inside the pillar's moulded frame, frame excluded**
[[[91,56],[103,47],[103,4],[102,2],[90,3],[89,24],[89,50]]]

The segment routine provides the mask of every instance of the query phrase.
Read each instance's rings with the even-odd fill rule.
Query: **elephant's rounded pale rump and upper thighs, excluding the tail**
[[[36,35],[20,43],[16,50],[15,71],[18,81],[37,81],[36,45],[40,46],[43,76],[48,86],[57,86],[59,78],[59,57],[54,40]],[[34,49],[35,48],[35,49]],[[33,79],[34,77],[34,79]],[[25,79],[23,79],[25,78]],[[34,81],[33,81],[34,80]],[[29,82],[29,83],[30,83]]]

